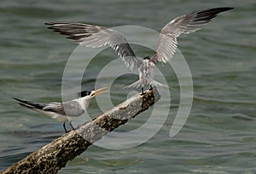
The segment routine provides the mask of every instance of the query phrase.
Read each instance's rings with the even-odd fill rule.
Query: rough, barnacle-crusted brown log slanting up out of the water
[[[155,88],[143,95],[138,93],[94,120],[79,126],[75,131],[67,132],[42,149],[29,154],[1,173],[56,173],[66,166],[68,160],[73,160],[92,143],[118,126],[124,125],[159,99],[160,94]]]

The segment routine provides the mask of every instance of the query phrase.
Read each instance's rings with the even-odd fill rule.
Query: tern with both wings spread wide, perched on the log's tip
[[[125,61],[125,65],[130,69],[138,69],[139,80],[128,87],[150,87],[165,86],[154,81],[154,65],[158,62],[169,62],[177,49],[177,37],[181,34],[189,34],[198,31],[207,25],[217,14],[232,8],[207,8],[191,14],[178,16],[167,23],[160,31],[157,48],[151,57],[138,59],[132,51],[125,36],[119,31],[114,31],[99,25],[88,25],[83,23],[50,22],[45,23],[49,29],[67,35],[82,46],[89,48],[100,48],[106,45],[113,48],[119,57]]]

